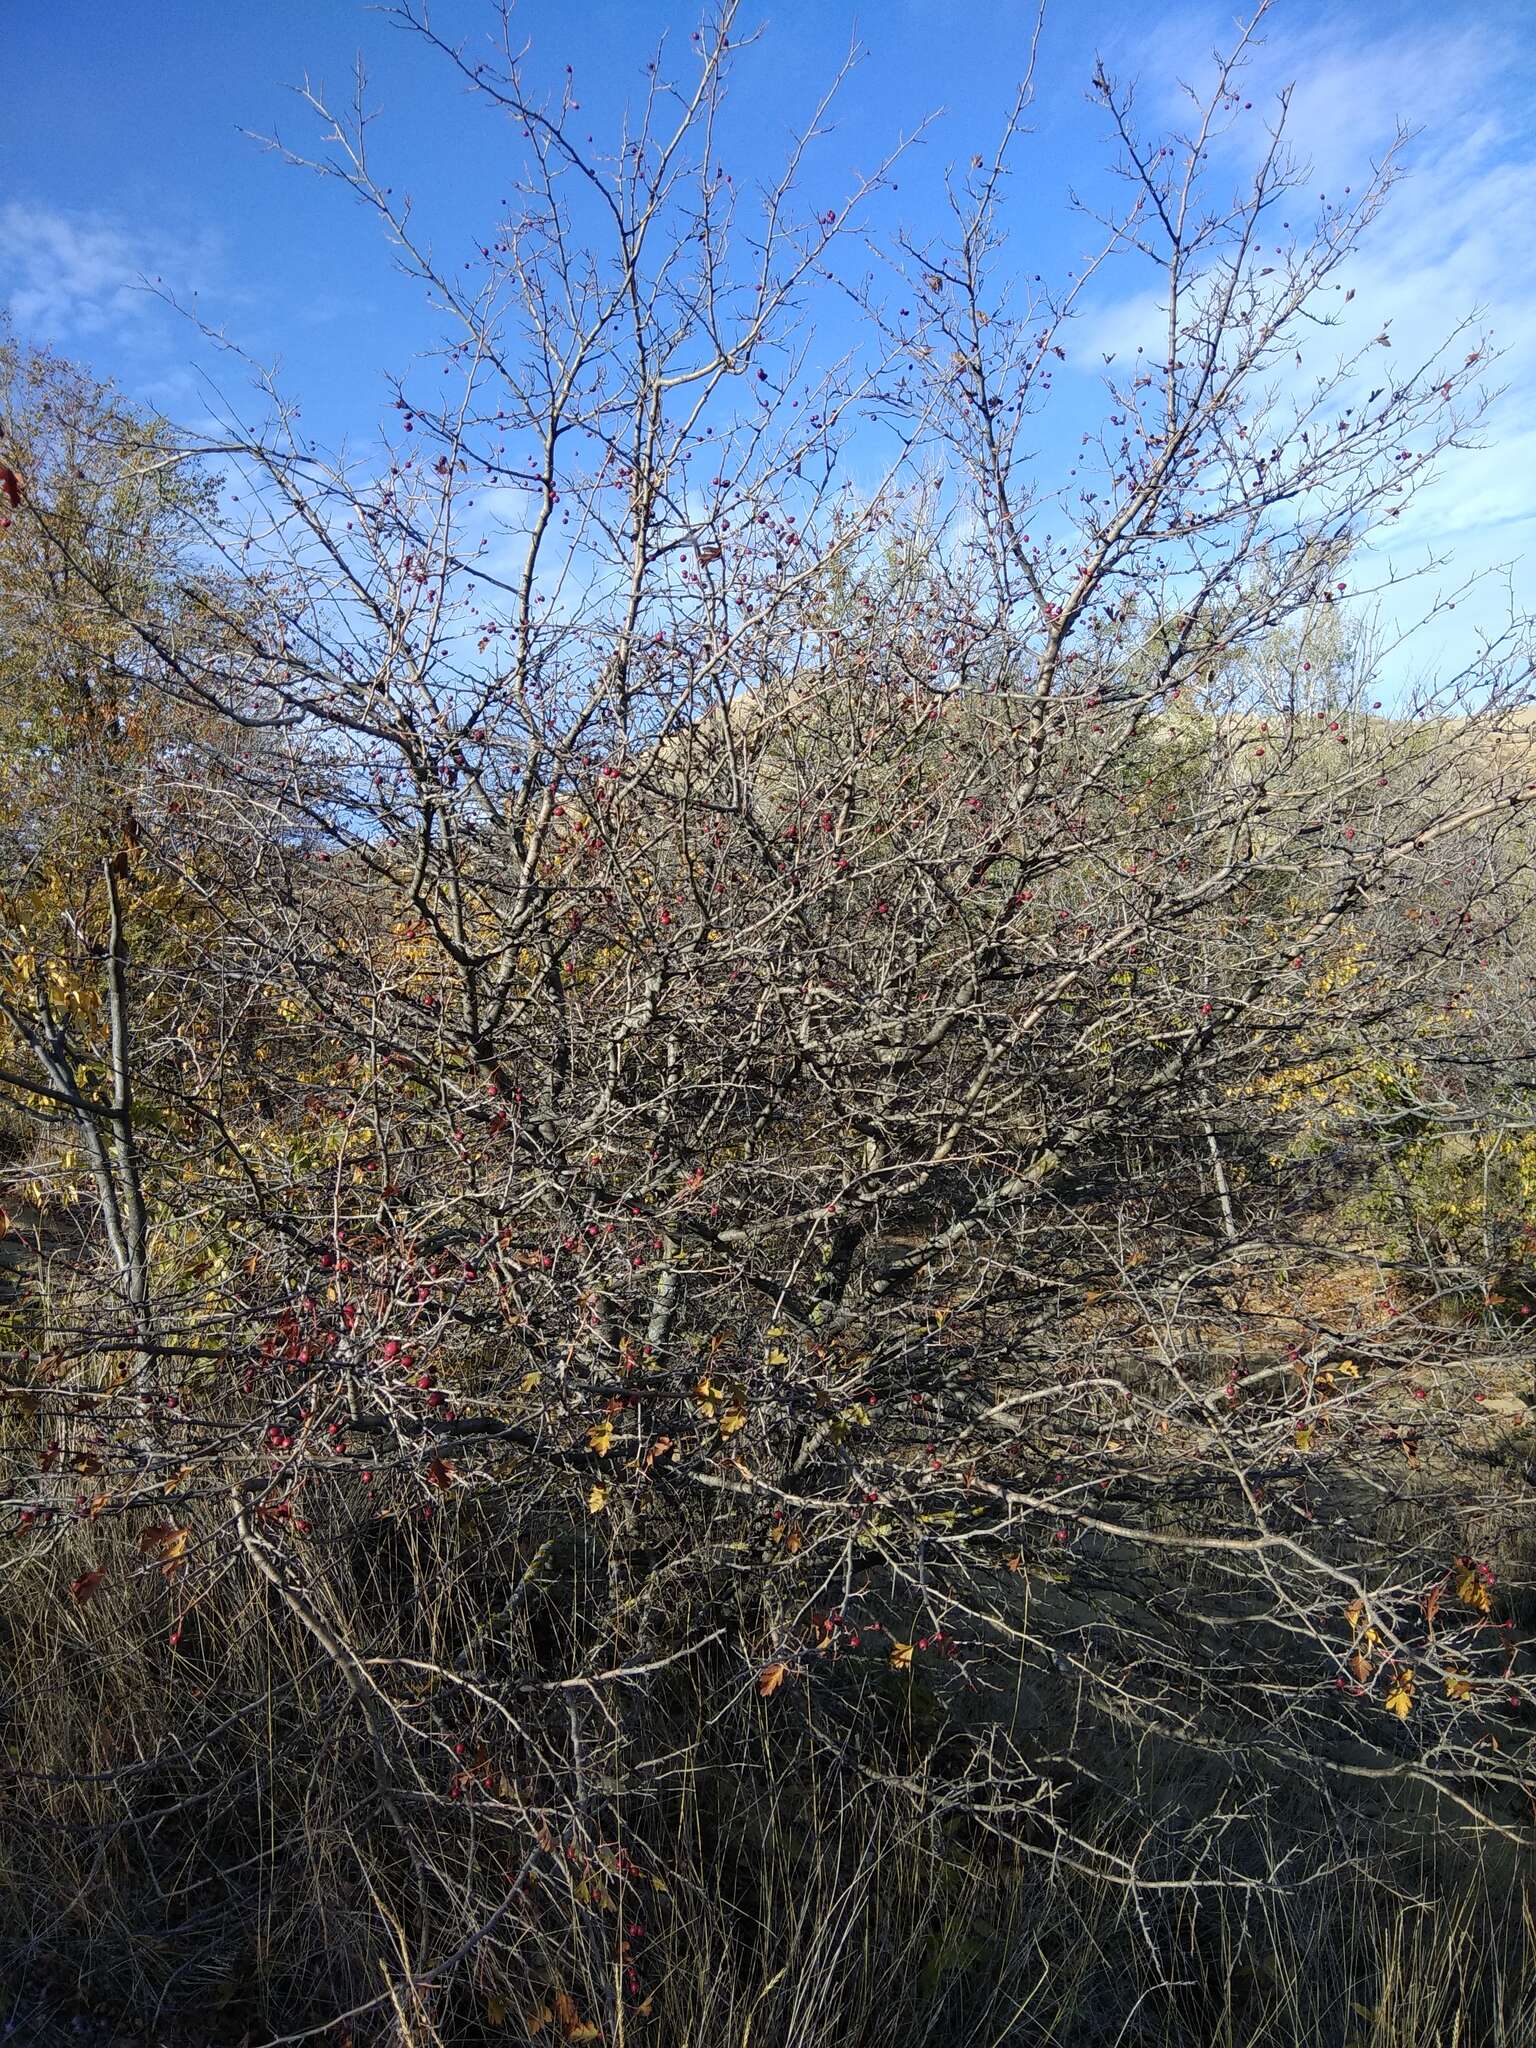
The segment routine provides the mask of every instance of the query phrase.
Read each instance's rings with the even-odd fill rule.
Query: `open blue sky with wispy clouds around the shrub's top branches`
[[[850,41],[868,47],[813,166],[836,193],[891,141],[942,113],[903,162],[901,221],[938,223],[944,168],[995,133],[1024,63],[1032,0],[760,0],[764,39],[737,74],[733,170],[766,168]],[[438,0],[455,39],[489,27],[485,0]],[[522,0],[532,72],[575,68],[596,133],[635,90],[655,39],[686,41],[682,0]],[[1141,78],[1151,121],[1180,76],[1204,72],[1231,8],[1157,0],[1055,0],[1040,47],[1034,135],[1010,199],[1018,260],[1065,268],[1087,225],[1067,195],[1094,190],[1106,162],[1085,102],[1092,57]],[[1294,80],[1292,135],[1319,188],[1358,178],[1401,117],[1421,129],[1399,190],[1360,264],[1360,301],[1399,346],[1483,307],[1507,350],[1495,444],[1458,457],[1415,510],[1401,547],[1450,547],[1460,567],[1524,557],[1536,602],[1536,0],[1419,6],[1276,0],[1251,72],[1257,98]],[[0,68],[0,297],[23,338],[47,340],[172,416],[207,416],[211,356],[139,289],[162,279],[254,356],[281,360],[322,440],[367,440],[383,373],[430,340],[418,293],[391,276],[373,223],[336,184],[297,172],[244,131],[315,139],[289,90],[305,78],[344,96],[354,61],[379,109],[375,147],[440,246],[492,223],[508,188],[506,133],[414,39],[358,0],[8,0]],[[1110,279],[1092,340],[1130,334],[1135,281]],[[217,375],[231,383],[225,362]],[[1092,397],[1092,393],[1083,393]]]

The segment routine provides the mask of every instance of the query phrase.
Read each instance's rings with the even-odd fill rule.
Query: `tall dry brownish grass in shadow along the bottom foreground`
[[[328,1579],[330,1597],[352,1602],[356,1638],[397,1647],[397,1616],[434,1597],[442,1546],[471,1534],[358,1524]],[[455,1765],[451,1745],[428,1743],[444,1761],[432,1782],[420,1743],[371,1745],[270,1589],[225,1571],[186,1602],[145,1575],[78,1608],[55,1591],[68,1544],[98,1550],[88,1532],[61,1538],[47,1569],[12,1575],[0,1608],[0,1952],[20,2015],[78,1987],[168,2040],[305,2028],[422,2048],[594,2038],[584,2028],[633,2048],[1536,2038],[1528,1872],[1413,1815],[1346,1823],[1327,1788],[1247,1786],[1225,1882],[1159,1886],[1174,1862],[1153,1853],[1145,1884],[1124,1886],[1053,1853],[1047,1831],[1022,1825],[1008,1843],[977,1825],[946,1780],[948,1706],[922,1686],[881,1673],[764,1700],[700,1661],[623,1698],[561,1698],[541,1724],[530,1716],[522,1753],[471,1741]],[[524,1602],[496,1649],[504,1667],[549,1655],[571,1585]],[[369,1614],[385,1587],[389,1624]],[[430,1710],[424,1696],[422,1726]],[[977,1708],[971,1733],[983,1712],[995,1710]],[[508,1880],[547,1827],[541,1743],[567,1716],[582,1796],[559,1853],[518,1888]],[[1104,1761],[1102,1743],[1100,1731],[1083,1747]],[[487,1796],[479,1776],[453,1794],[449,1765],[469,1763]],[[1151,1835],[1169,1815],[1208,1825],[1231,1792],[1139,1741],[1112,1798],[1098,1794],[1098,1833]]]

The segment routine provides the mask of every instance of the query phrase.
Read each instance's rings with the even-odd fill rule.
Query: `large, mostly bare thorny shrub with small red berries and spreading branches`
[[[68,860],[6,817],[23,1970],[285,2038],[1331,2040],[1366,1978],[1518,2038],[1526,1325],[1370,1204],[1432,1104],[1522,1116],[1530,647],[1389,696],[1343,621],[1483,406],[1481,338],[1335,322],[1393,162],[1309,209],[1278,121],[1219,199],[1241,49],[1169,137],[1100,76],[1094,270],[1167,324],[1063,477],[1028,90],[885,303],[825,109],[719,166],[731,4],[614,156],[401,20],[522,176],[438,264],[317,109],[446,322],[383,457],[272,393],[215,504],[178,442],[154,600],[131,496],[27,463],[4,535],[162,721]]]

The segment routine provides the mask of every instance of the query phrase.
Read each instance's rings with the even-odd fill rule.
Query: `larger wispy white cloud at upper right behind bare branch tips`
[[[1483,446],[1446,459],[1440,477],[1393,530],[1393,563],[1450,553],[1444,582],[1520,561],[1536,565],[1536,137],[1526,115],[1528,59],[1495,10],[1468,25],[1419,18],[1380,33],[1370,10],[1337,10],[1290,29],[1296,10],[1278,8],[1255,49],[1243,117],[1212,156],[1217,180],[1251,162],[1268,139],[1266,106],[1290,90],[1286,137],[1311,166],[1309,190],[1356,190],[1399,127],[1411,131],[1407,178],[1370,229],[1343,287],[1354,301],[1327,334],[1346,354],[1386,328],[1397,362],[1423,360],[1454,326],[1475,317],[1497,360],[1489,383],[1501,391]],[[1141,74],[1147,119],[1178,117],[1178,82],[1200,86],[1208,51],[1223,41],[1217,14],[1192,8],[1159,23],[1157,41],[1120,53]],[[1522,78],[1522,70],[1526,76]],[[1184,102],[1188,106],[1188,102]],[[1337,295],[1341,307],[1343,293]],[[1077,336],[1077,360],[1100,352],[1155,352],[1161,319],[1155,291],[1100,303]],[[1468,350],[1470,350],[1468,342]],[[1321,369],[1321,358],[1309,365]],[[1491,588],[1489,618],[1501,598]]]

